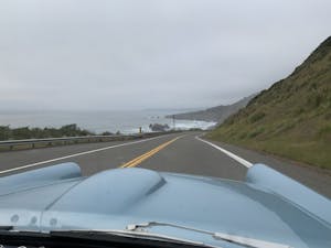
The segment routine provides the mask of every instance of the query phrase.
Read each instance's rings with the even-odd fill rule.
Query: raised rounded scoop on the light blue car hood
[[[166,180],[158,172],[146,169],[104,171],[71,188],[49,211],[119,213],[143,201],[164,184]]]

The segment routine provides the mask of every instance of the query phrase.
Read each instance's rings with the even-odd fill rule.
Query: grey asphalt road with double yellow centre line
[[[199,134],[201,133],[173,133],[147,140],[1,152],[0,176],[71,161],[81,165],[84,175],[119,166],[141,166],[157,171],[244,180],[247,166],[196,139]],[[268,164],[331,198],[330,172],[220,142],[213,143],[252,163]]]

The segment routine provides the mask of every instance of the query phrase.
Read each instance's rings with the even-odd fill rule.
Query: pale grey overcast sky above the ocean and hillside
[[[330,0],[1,0],[0,109],[199,108],[286,77]]]

